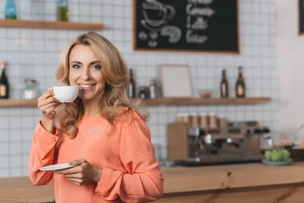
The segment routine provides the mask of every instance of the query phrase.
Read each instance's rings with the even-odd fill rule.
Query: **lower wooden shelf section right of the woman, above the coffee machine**
[[[251,98],[156,98],[144,99],[142,104],[147,106],[169,106],[169,105],[247,105],[268,103],[269,97]]]

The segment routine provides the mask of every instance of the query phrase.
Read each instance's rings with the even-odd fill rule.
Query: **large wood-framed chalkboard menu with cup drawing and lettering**
[[[133,7],[134,50],[240,53],[238,0],[133,0]]]

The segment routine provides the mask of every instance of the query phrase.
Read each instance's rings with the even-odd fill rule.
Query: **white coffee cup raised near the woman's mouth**
[[[54,86],[51,88],[54,90],[54,97],[60,102],[73,102],[78,96],[78,86]]]

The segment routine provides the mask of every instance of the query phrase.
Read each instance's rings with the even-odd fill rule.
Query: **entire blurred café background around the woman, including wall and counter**
[[[251,186],[253,202],[279,201],[285,189],[282,198],[301,202],[304,185],[286,184],[304,181],[303,0],[0,0],[1,202],[54,202],[52,185],[28,180],[37,97],[60,85],[62,50],[88,31],[118,48],[127,94],[150,112],[165,178],[159,202]],[[6,196],[16,187],[27,197]],[[193,191],[207,192],[182,193]],[[243,192],[214,202],[242,202]]]

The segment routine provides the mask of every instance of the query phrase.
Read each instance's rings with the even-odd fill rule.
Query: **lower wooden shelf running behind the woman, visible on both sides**
[[[271,101],[269,97],[263,98],[156,98],[143,99],[146,106],[170,105],[247,105],[262,104]],[[0,107],[37,106],[37,99],[0,99]]]

